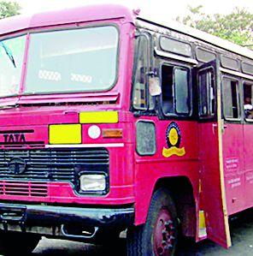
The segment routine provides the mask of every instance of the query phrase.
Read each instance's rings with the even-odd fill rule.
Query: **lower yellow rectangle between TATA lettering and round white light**
[[[50,125],[50,144],[79,144],[82,142],[81,125]]]

